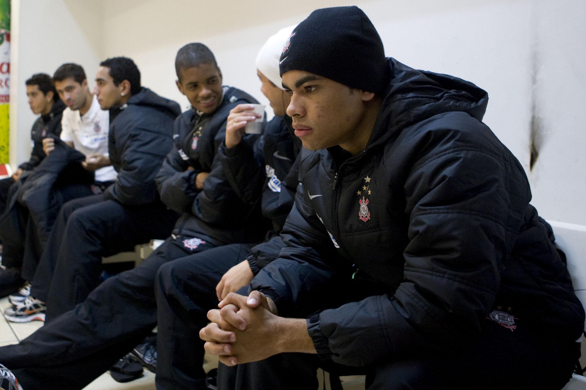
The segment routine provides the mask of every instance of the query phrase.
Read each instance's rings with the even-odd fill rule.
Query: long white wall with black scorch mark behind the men
[[[29,4],[33,1],[20,0]],[[81,32],[91,36],[91,32],[99,31],[94,40],[78,37],[69,50],[59,49],[57,40],[50,39],[55,49],[48,70],[64,62],[64,56],[87,51],[82,46],[89,41],[95,49],[93,57],[99,57],[95,59],[96,66],[106,57],[131,57],[141,69],[144,85],[175,99],[184,109],[188,102],[176,90],[173,68],[175,53],[183,44],[207,44],[222,68],[224,84],[237,86],[266,102],[254,67],[254,58],[265,39],[281,27],[301,21],[315,8],[359,5],[379,30],[388,56],[415,68],[456,75],[486,89],[490,101],[485,122],[526,168],[533,203],[541,215],[586,226],[586,207],[581,202],[586,193],[586,175],[582,174],[586,166],[583,0],[42,2],[47,9],[53,9],[53,3],[59,9],[65,8],[70,18],[93,15],[94,25],[101,20],[101,28],[92,25],[82,30],[66,18],[68,25],[77,29],[73,35]],[[33,15],[27,19],[43,15],[35,9],[30,12]],[[21,41],[33,38],[35,34],[28,29],[34,26],[30,21],[20,26]],[[41,46],[29,45],[21,61],[28,60],[27,56],[35,53],[33,48]],[[93,60],[89,57],[79,60],[84,65],[88,62],[88,69]],[[46,61],[29,64],[30,74],[32,68],[37,71],[36,64],[45,66]],[[92,78],[90,74],[88,71]],[[21,102],[25,98],[19,99]],[[25,117],[28,107],[21,104],[18,110]],[[539,129],[541,142],[539,158],[530,171],[532,123],[538,125],[534,127]],[[26,129],[29,124],[23,126],[19,128]],[[22,133],[21,139],[26,137]]]

